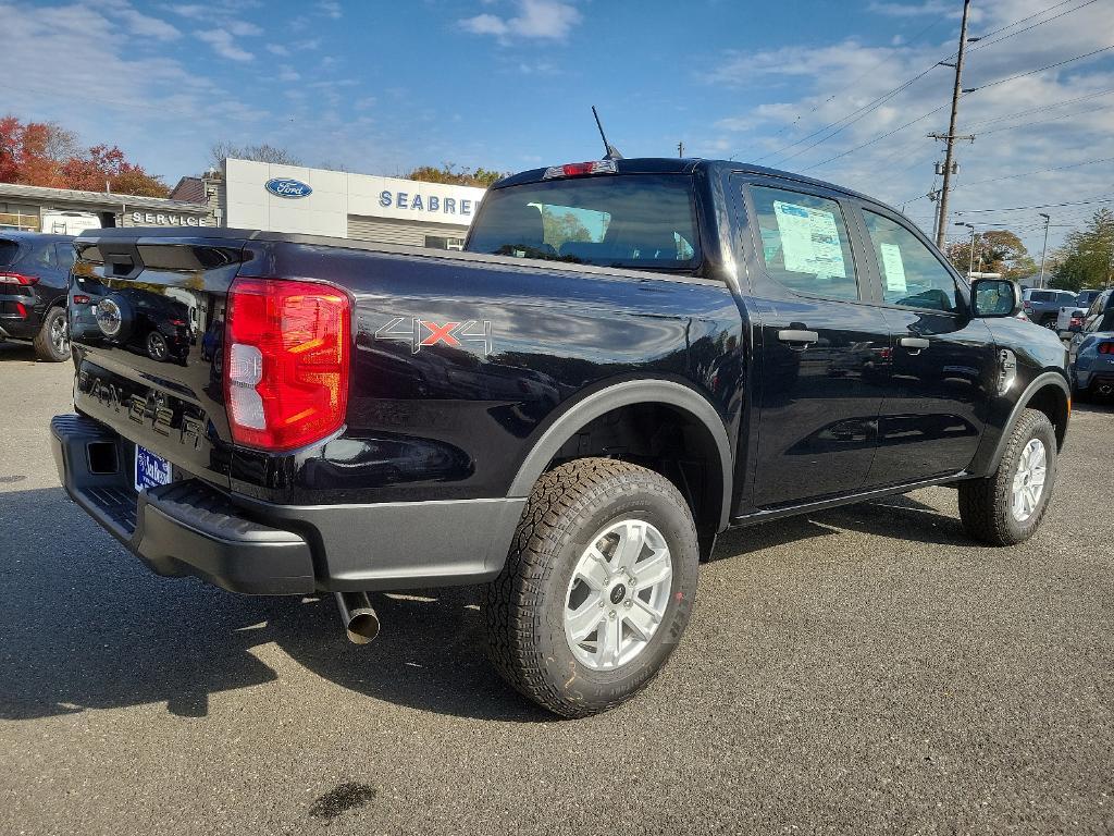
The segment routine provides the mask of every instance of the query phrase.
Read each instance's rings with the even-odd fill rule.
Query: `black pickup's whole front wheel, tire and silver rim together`
[[[1010,546],[1033,536],[1056,482],[1056,431],[1048,416],[1026,409],[1006,443],[998,469],[959,483],[959,516],[975,539]]]

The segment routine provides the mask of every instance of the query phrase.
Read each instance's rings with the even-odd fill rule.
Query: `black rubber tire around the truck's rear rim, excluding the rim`
[[[651,523],[668,545],[668,603],[637,655],[594,670],[565,635],[569,583],[593,538],[624,518]],[[692,611],[698,560],[692,514],[664,476],[604,458],[561,465],[534,486],[502,573],[487,587],[491,661],[520,693],[561,717],[612,709],[645,688],[676,647]],[[622,620],[618,630],[625,630]]]

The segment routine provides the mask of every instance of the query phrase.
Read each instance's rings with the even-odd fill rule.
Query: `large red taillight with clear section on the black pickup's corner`
[[[330,285],[237,279],[228,291],[225,402],[236,444],[289,450],[344,424],[351,303]]]

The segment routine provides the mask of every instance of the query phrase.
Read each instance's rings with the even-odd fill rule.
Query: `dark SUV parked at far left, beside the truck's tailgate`
[[[69,359],[66,289],[74,239],[0,232],[0,339],[30,340],[40,360]]]

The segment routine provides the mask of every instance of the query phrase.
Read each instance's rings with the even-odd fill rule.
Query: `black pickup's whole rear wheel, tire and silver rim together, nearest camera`
[[[488,585],[491,661],[563,717],[618,706],[681,639],[698,554],[688,506],[664,476],[603,458],[550,470]]]

